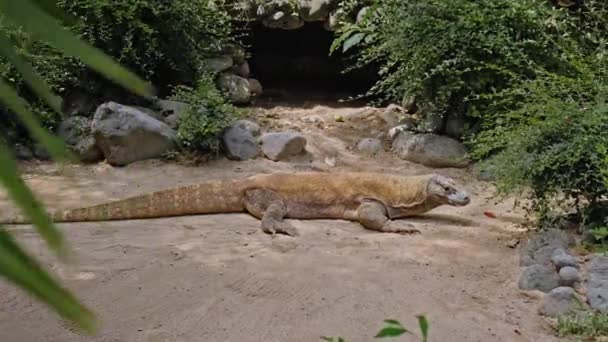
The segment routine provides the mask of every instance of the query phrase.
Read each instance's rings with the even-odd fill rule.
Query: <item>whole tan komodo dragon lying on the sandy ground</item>
[[[296,236],[284,221],[345,219],[392,233],[419,232],[392,219],[425,213],[440,205],[465,206],[469,194],[437,174],[274,173],[241,180],[209,181],[79,209],[51,213],[55,222],[111,221],[196,214],[248,212],[266,233]],[[5,224],[27,224],[24,218]],[[407,225],[406,225],[407,226]]]

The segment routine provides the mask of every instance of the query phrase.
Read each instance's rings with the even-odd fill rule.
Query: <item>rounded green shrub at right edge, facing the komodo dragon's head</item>
[[[493,155],[502,193],[530,189],[541,218],[557,208],[603,224],[608,196],[608,86],[599,79],[546,76],[514,89],[520,105],[494,116],[473,140],[474,158]],[[586,223],[586,222],[584,222]]]

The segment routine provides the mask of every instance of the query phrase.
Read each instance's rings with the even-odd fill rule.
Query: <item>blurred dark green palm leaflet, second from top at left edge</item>
[[[0,54],[11,62],[23,76],[23,79],[54,111],[61,112],[61,99],[53,94],[49,86],[35,75],[32,67],[17,53],[11,41],[0,34]]]

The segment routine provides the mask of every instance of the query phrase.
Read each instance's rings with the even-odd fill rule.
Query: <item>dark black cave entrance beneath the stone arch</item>
[[[295,30],[272,29],[260,22],[250,28],[250,68],[264,87],[266,99],[337,101],[368,90],[375,73],[357,70],[342,73],[344,56],[329,56],[334,33],[323,22]]]

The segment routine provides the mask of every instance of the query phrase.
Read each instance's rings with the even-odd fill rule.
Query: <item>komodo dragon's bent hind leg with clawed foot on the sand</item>
[[[296,228],[284,220],[287,207],[277,193],[262,189],[248,190],[245,194],[245,208],[251,215],[262,220],[264,233],[298,236]]]

